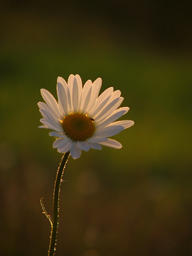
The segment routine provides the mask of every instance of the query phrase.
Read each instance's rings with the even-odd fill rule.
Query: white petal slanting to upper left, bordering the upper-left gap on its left
[[[47,103],[47,105],[53,110],[55,115],[60,118],[60,109],[59,105],[56,102],[56,99],[53,97],[52,94],[48,90],[41,89],[41,95],[44,99],[44,101]]]

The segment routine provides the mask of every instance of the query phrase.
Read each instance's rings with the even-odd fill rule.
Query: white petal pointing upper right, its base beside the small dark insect
[[[104,109],[98,114],[97,117],[93,117],[95,120],[95,123],[98,124],[102,122],[107,116],[109,116],[115,109],[117,109],[120,104],[123,102],[124,98],[116,98],[112,102],[110,102],[108,105],[105,106]]]

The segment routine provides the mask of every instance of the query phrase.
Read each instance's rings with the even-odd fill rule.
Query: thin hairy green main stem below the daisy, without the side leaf
[[[53,193],[53,226],[51,230],[50,244],[49,244],[49,256],[53,256],[56,251],[56,233],[58,227],[58,213],[59,213],[59,194],[60,194],[60,182],[63,176],[64,168],[69,157],[69,151],[61,158],[60,166],[57,170],[54,193]]]

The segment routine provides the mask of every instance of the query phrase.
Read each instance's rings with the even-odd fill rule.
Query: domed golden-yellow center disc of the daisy
[[[94,120],[88,115],[71,113],[61,120],[66,135],[73,141],[84,141],[93,136],[95,131]]]

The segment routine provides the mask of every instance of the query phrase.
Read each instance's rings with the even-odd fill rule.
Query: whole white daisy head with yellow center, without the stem
[[[122,147],[118,141],[108,137],[131,127],[134,122],[116,121],[126,114],[129,108],[118,108],[124,98],[120,97],[120,90],[114,91],[113,87],[98,96],[101,86],[101,78],[96,79],[94,83],[88,80],[82,86],[79,75],[70,75],[68,83],[58,77],[58,102],[49,91],[41,89],[42,98],[46,103],[38,102],[39,111],[44,117],[40,120],[43,125],[39,128],[53,130],[49,135],[57,138],[53,148],[57,148],[58,152],[70,151],[72,158],[77,159],[82,150],[101,150],[102,146],[116,149]]]

